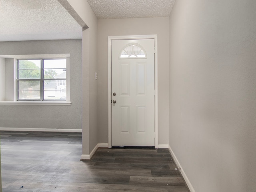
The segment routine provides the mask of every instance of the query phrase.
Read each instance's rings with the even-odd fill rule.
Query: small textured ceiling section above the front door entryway
[[[87,0],[100,19],[168,17],[175,0]]]

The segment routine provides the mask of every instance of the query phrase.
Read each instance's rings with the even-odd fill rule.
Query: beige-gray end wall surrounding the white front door
[[[108,143],[108,36],[158,35],[158,144],[168,144],[169,18],[98,20],[98,140]]]

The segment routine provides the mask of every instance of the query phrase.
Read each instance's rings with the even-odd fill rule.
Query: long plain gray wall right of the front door
[[[176,0],[169,144],[196,192],[256,191],[256,1]]]

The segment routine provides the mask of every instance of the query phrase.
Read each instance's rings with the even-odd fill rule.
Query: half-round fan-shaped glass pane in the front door
[[[144,48],[142,48],[142,46],[140,46],[139,44],[128,44],[126,45],[120,55],[119,58],[120,59],[124,59],[124,58],[146,58],[146,52],[144,50]]]

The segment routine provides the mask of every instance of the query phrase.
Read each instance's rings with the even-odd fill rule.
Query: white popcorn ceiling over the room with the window
[[[0,0],[0,41],[81,38],[82,27],[57,0]]]

